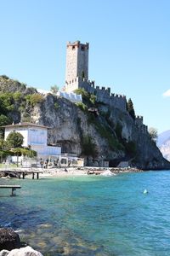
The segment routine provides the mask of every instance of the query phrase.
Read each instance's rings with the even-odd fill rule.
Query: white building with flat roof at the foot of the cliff
[[[37,151],[38,158],[57,157],[61,154],[60,147],[48,146],[48,127],[43,125],[35,125],[31,123],[20,123],[14,125],[6,125],[5,140],[11,131],[20,132],[24,137],[23,147],[31,146],[31,149]]]

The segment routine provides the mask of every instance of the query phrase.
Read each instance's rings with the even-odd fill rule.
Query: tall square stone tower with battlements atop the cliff
[[[88,80],[88,46],[80,41],[67,43],[65,90],[73,91],[79,86],[79,81]]]

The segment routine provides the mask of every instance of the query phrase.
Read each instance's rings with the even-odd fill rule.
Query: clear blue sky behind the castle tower
[[[66,42],[89,42],[89,79],[130,97],[170,130],[170,1],[0,0],[0,74],[49,90],[65,82]]]

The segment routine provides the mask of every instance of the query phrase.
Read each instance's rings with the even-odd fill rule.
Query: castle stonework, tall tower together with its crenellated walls
[[[88,80],[88,49],[89,44],[81,44],[80,41],[67,44],[65,91],[70,93],[78,88],[84,88],[94,94],[98,102],[104,102],[111,108],[119,108],[127,112],[126,96],[111,93],[110,87],[100,88],[95,86],[94,81]],[[135,125],[143,132],[147,132],[147,126],[143,125],[143,117],[137,116]]]

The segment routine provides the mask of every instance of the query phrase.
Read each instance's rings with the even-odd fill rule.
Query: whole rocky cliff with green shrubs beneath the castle
[[[0,77],[0,101],[6,93],[10,95],[8,105],[13,106],[5,112],[0,109],[0,115],[8,116],[10,122],[49,126],[48,143],[60,144],[62,152],[84,156],[89,165],[108,160],[116,166],[128,160],[142,169],[170,169],[148,132],[136,124],[127,110],[98,102],[88,94],[83,103],[75,104],[52,94],[40,95],[17,83]]]

